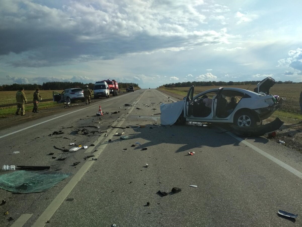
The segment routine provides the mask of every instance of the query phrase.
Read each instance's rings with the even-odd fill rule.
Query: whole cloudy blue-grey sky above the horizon
[[[298,0],[1,0],[0,84],[302,81]]]

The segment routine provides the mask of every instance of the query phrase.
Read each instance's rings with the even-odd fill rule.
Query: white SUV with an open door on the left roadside
[[[60,103],[66,102],[67,104],[71,104],[75,101],[85,101],[84,93],[82,88],[68,88],[63,90],[60,94],[57,91],[53,91],[53,101]]]

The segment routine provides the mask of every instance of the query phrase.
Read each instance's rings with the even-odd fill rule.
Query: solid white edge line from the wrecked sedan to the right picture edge
[[[220,128],[220,127],[218,127],[218,128],[220,130],[223,130],[223,128]],[[302,173],[299,172],[297,169],[294,169],[293,167],[289,166],[288,164],[285,164],[284,162],[280,161],[279,159],[275,158],[274,156],[271,156],[270,154],[266,153],[265,151],[263,151],[263,150],[259,149],[258,147],[250,144],[246,140],[241,139],[240,137],[237,137],[233,133],[231,133],[231,132],[226,132],[226,133],[229,134],[231,137],[235,138],[236,140],[238,140],[239,142],[245,144],[246,146],[249,146],[254,151],[258,152],[259,154],[261,154],[263,156],[265,156],[269,160],[273,161],[274,163],[278,164],[279,166],[283,167],[284,169],[287,169],[289,172],[293,173],[294,175],[296,175],[297,177],[302,179]]]

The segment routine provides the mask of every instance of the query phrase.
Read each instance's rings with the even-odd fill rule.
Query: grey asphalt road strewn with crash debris
[[[159,106],[173,100],[142,89],[2,130],[1,165],[51,166],[71,175],[45,192],[0,189],[7,201],[1,214],[8,211],[0,226],[302,225],[300,217],[277,214],[279,209],[301,214],[300,153],[265,137],[218,133],[221,126],[160,126]],[[108,114],[96,116],[99,105]],[[108,136],[77,133],[83,128],[108,130]],[[64,134],[49,136],[59,130]],[[114,135],[120,132],[131,139]],[[136,142],[141,145],[132,147]],[[70,148],[70,143],[88,148],[64,153],[53,147]],[[83,159],[91,154],[97,160]],[[182,191],[174,194],[173,187]]]

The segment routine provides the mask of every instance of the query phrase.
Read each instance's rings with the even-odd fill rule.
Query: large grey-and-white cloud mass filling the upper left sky
[[[68,65],[131,53],[229,43],[204,30],[203,1],[0,1],[0,55],[14,67]],[[215,12],[228,11],[214,5]],[[220,19],[223,19],[220,17]],[[22,43],[22,45],[16,45]],[[13,58],[9,53],[14,53]]]

